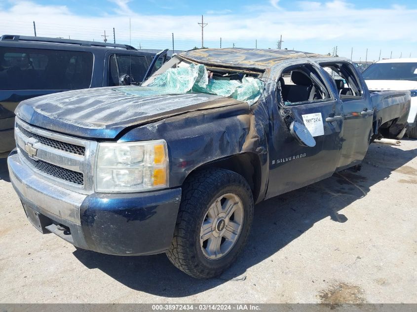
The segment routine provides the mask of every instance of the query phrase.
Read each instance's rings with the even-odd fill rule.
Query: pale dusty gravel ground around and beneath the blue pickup
[[[417,140],[257,205],[245,253],[193,279],[164,254],[76,250],[26,219],[0,159],[2,303],[417,303]]]

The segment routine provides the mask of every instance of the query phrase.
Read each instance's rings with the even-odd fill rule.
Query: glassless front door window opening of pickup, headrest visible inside
[[[307,65],[284,70],[278,81],[284,105],[304,104],[330,99],[330,93],[317,71]]]

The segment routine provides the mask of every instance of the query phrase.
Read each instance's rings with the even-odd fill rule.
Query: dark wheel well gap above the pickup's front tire
[[[242,175],[248,182],[256,203],[261,189],[261,164],[256,154],[243,153],[215,160],[194,169],[191,173],[207,168],[221,168]]]

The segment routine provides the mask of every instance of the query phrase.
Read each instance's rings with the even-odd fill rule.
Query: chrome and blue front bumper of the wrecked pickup
[[[15,151],[7,163],[26,215],[42,233],[52,232],[77,247],[114,255],[156,254],[169,248],[181,188],[84,195],[34,175]]]

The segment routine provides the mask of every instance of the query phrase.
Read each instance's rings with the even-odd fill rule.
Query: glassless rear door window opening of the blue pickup
[[[333,77],[341,100],[362,98],[363,91],[351,66],[345,63],[325,64],[323,68]]]

